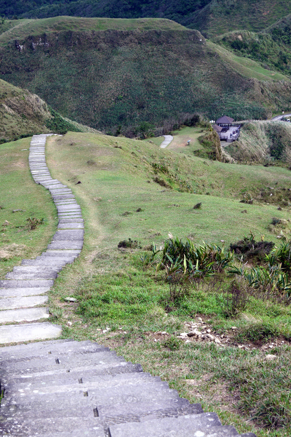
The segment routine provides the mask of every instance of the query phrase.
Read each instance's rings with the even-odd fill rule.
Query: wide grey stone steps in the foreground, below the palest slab
[[[3,347],[0,383],[1,436],[239,436],[159,377],[89,341]]]

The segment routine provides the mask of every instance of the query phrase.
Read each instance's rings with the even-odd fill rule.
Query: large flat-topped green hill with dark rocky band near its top
[[[286,76],[168,20],[16,20],[0,45],[2,78],[99,130],[161,125],[183,112],[258,119],[291,106]]]

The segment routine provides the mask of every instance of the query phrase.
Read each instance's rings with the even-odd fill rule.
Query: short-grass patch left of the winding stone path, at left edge
[[[30,139],[25,138],[0,145],[1,279],[23,258],[39,255],[57,226],[56,209],[49,192],[35,184],[30,174],[29,144]],[[13,210],[23,211],[13,213]],[[30,230],[28,217],[44,218],[45,222]],[[5,221],[9,222],[7,226]]]

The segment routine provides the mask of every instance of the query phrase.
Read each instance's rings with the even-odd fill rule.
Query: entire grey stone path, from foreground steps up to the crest
[[[30,165],[34,180],[52,193],[59,226],[46,252],[24,260],[0,282],[2,308],[10,305],[0,312],[10,311],[2,323],[33,321],[2,325],[1,343],[61,333],[57,325],[34,322],[33,302],[39,301],[33,299],[46,301],[43,294],[83,244],[81,209],[71,190],[50,177],[45,141],[44,135],[32,138]],[[32,300],[27,303],[21,300],[28,298]],[[23,315],[11,313],[19,311],[17,305],[28,307],[20,310]],[[47,308],[36,308],[41,318],[48,316]],[[0,348],[0,390],[1,437],[255,437],[222,426],[215,413],[204,413],[200,404],[179,398],[176,390],[143,372],[139,364],[90,341],[49,340]]]

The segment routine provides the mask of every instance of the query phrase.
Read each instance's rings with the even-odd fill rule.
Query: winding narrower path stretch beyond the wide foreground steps
[[[49,318],[49,309],[44,306],[48,302],[45,293],[63,266],[78,257],[83,245],[81,207],[72,191],[50,176],[45,157],[47,137],[32,137],[29,165],[34,181],[46,187],[53,197],[58,210],[58,230],[41,256],[22,260],[20,266],[7,273],[5,280],[0,280],[0,344],[60,336],[61,326],[35,322]]]

